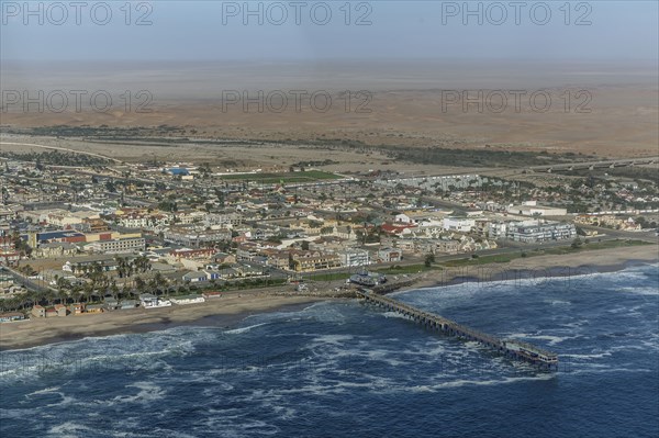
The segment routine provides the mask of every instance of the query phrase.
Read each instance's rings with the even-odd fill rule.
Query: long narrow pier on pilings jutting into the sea
[[[388,296],[379,295],[369,289],[360,289],[357,294],[367,303],[376,304],[390,312],[398,312],[431,330],[439,330],[447,335],[467,340],[476,340],[494,351],[515,360],[529,362],[546,370],[558,370],[558,355],[544,350],[532,344],[516,339],[500,339],[471,327],[458,324],[434,313],[424,312],[409,304]]]

